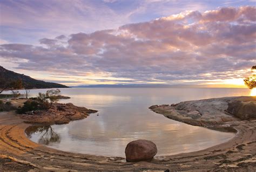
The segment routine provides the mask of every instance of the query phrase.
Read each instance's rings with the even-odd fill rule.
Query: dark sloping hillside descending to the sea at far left
[[[30,85],[32,88],[69,88],[62,84],[36,80],[27,75],[6,70],[3,66],[0,66],[0,88],[3,88],[6,82],[16,81],[18,79],[21,79],[23,84]]]

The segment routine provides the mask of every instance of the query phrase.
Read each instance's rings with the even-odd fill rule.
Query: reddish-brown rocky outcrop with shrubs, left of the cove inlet
[[[69,104],[53,104],[47,111],[31,111],[21,115],[22,119],[28,123],[38,123],[42,125],[64,124],[73,120],[84,119],[90,113],[97,111],[78,107],[71,103]]]

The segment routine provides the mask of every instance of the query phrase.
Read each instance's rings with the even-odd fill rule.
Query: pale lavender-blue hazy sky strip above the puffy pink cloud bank
[[[9,43],[39,45],[37,40],[41,38],[52,39],[77,32],[90,33],[170,16],[185,10],[202,12],[228,4],[255,6],[253,1],[230,0],[2,0],[1,39]],[[255,18],[250,11],[246,11]]]

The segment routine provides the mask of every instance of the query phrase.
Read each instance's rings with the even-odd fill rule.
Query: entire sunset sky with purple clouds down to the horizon
[[[0,0],[0,65],[68,86],[244,86],[256,1]]]

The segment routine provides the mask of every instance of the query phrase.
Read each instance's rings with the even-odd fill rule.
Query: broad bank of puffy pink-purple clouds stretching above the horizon
[[[112,1],[109,1],[112,2]],[[100,75],[124,82],[241,78],[255,65],[256,8],[185,11],[114,30],[2,44],[18,68],[64,75]]]

